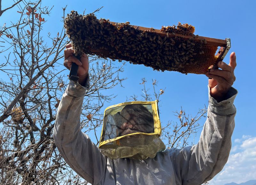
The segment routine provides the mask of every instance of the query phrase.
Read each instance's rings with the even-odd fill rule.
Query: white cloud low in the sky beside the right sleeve
[[[256,137],[243,136],[235,139],[228,162],[209,185],[237,184],[256,179]]]

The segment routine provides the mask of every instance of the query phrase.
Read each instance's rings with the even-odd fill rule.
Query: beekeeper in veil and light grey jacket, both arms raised
[[[176,184],[198,185],[211,180],[226,164],[235,126],[237,91],[236,55],[221,69],[206,74],[209,107],[199,142],[182,149],[165,149],[160,139],[157,101],[125,102],[104,112],[100,146],[80,129],[83,99],[89,85],[88,57],[79,61],[71,44],[64,51],[64,66],[78,67],[79,81],[70,80],[60,101],[53,138],[68,165],[92,184]],[[100,148],[100,149],[99,149]]]

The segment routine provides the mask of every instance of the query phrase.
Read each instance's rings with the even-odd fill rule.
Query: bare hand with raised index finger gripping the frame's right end
[[[236,54],[232,52],[230,54],[230,61],[227,65],[226,63],[220,61],[218,63],[220,69],[210,69],[210,72],[206,72],[206,76],[209,79],[210,95],[220,102],[225,100],[226,94],[230,87],[236,80],[234,75],[234,70],[236,68]]]

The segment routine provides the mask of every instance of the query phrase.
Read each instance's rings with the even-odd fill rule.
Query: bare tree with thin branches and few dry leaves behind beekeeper
[[[87,184],[65,163],[52,138],[57,108],[68,84],[68,71],[58,68],[63,63],[68,37],[63,28],[48,35],[42,32],[52,7],[44,7],[41,0],[20,2],[13,4],[19,5],[18,22],[0,31],[0,42],[4,43],[0,54],[5,55],[0,75],[7,77],[0,80],[0,183]],[[89,62],[91,88],[83,103],[81,129],[95,137],[98,144],[101,107],[116,96],[106,95],[105,90],[122,86],[124,78],[119,73],[123,72],[124,63],[114,64],[95,56],[89,56]],[[142,79],[141,98],[160,101],[165,89],[158,92],[156,80],[152,81],[152,89],[147,88],[146,82]],[[133,95],[130,99],[138,97]],[[206,109],[200,110],[190,118],[181,109],[176,113],[178,122],[162,123],[167,147],[185,147],[189,136],[200,127],[197,122],[205,112]]]

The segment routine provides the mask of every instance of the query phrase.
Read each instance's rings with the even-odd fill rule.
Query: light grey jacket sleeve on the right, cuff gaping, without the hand
[[[209,93],[207,120],[198,144],[169,149],[178,184],[202,184],[211,180],[226,164],[235,127],[233,102],[236,94],[236,89],[231,87],[227,99],[218,103]]]

